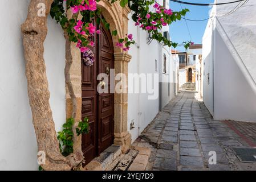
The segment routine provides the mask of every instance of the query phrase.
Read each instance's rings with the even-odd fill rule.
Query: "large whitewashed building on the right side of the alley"
[[[214,119],[256,122],[256,2],[243,3],[210,14],[202,39],[204,103]]]

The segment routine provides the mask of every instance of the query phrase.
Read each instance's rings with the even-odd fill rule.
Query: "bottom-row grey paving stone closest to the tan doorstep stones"
[[[169,170],[174,171],[177,169],[177,161],[176,159],[169,158],[156,158],[155,163],[153,164],[153,168],[161,169],[161,170]]]

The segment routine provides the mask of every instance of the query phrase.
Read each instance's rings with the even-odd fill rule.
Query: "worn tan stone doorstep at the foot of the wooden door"
[[[86,171],[144,171],[147,167],[151,150],[145,147],[133,147],[126,154],[121,154],[121,146],[112,144],[100,156],[88,163]]]

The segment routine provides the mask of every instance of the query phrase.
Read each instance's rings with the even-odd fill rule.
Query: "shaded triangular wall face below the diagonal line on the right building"
[[[256,122],[256,93],[216,31],[214,119]]]

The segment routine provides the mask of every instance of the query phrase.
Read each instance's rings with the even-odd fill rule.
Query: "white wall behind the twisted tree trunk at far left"
[[[29,0],[0,1],[0,170],[37,170],[37,145],[27,96],[21,24]],[[10,11],[11,10],[11,11]],[[15,12],[15,13],[14,13]],[[44,58],[56,130],[65,122],[64,38],[49,18]]]

